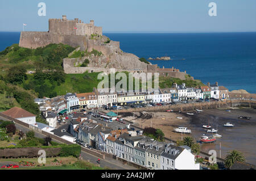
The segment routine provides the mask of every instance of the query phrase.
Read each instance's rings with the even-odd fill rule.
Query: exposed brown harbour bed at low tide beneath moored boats
[[[140,128],[152,127],[162,129],[165,137],[172,140],[181,140],[181,134],[173,132],[174,128],[187,127],[191,129],[191,136],[194,140],[199,140],[202,134],[207,134],[203,125],[208,123],[218,129],[218,134],[222,138],[217,138],[213,144],[200,144],[201,150],[208,152],[211,149],[217,151],[218,157],[225,158],[229,150],[239,150],[246,157],[246,162],[256,165],[256,110],[253,108],[237,108],[227,110],[203,110],[195,115],[187,115],[187,112],[135,112],[122,113],[122,117],[133,121],[134,125]],[[120,115],[120,116],[121,116]],[[183,119],[177,119],[176,117]],[[250,120],[239,119],[239,116],[250,116]],[[233,128],[226,128],[223,125],[227,122],[234,124]],[[183,137],[184,134],[183,134]],[[220,155],[221,145],[221,155]]]

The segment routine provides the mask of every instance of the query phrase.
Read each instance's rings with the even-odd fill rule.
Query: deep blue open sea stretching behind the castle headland
[[[171,61],[150,61],[160,68],[174,66],[203,83],[218,82],[229,90],[256,93],[256,32],[104,35],[120,41],[124,52],[138,57],[170,56]],[[3,50],[19,43],[19,32],[0,32],[0,40],[0,50]]]

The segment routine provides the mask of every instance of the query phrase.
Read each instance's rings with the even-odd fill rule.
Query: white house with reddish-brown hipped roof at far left
[[[7,116],[18,119],[27,124],[32,124],[32,125],[36,124],[36,115],[26,110],[23,110],[22,108],[19,108],[19,107],[13,107],[10,110],[7,110],[2,113]]]

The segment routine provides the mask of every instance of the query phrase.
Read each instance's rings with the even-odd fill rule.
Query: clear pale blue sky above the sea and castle
[[[46,16],[38,16],[38,3]],[[210,2],[217,16],[209,16]],[[8,0],[0,1],[0,31],[48,31],[49,18],[94,20],[104,32],[256,31],[255,0]]]

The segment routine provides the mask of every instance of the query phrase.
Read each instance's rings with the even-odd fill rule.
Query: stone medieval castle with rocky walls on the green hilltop
[[[116,71],[150,72],[159,73],[167,77],[185,79],[185,72],[179,69],[158,68],[158,65],[148,65],[139,61],[139,57],[131,53],[125,53],[119,48],[118,41],[109,40],[102,35],[102,27],[94,26],[94,21],[84,23],[78,18],[68,20],[63,15],[62,19],[49,19],[48,32],[21,32],[19,46],[25,48],[44,47],[48,44],[68,44],[71,47],[79,47],[79,50],[92,52],[97,50],[101,56],[86,56],[84,58],[64,58],[63,68],[65,73],[84,73],[104,71],[110,73],[110,68]],[[76,66],[86,59],[89,60],[87,67]]]

